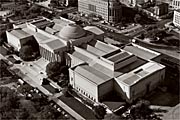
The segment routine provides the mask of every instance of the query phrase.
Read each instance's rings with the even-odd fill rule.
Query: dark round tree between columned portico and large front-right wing
[[[46,66],[46,73],[49,78],[57,76],[61,73],[61,63],[60,62],[50,62]]]

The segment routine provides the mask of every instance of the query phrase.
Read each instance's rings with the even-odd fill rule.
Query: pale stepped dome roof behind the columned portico
[[[59,36],[65,39],[75,39],[85,35],[85,30],[76,24],[68,24],[61,29]]]

